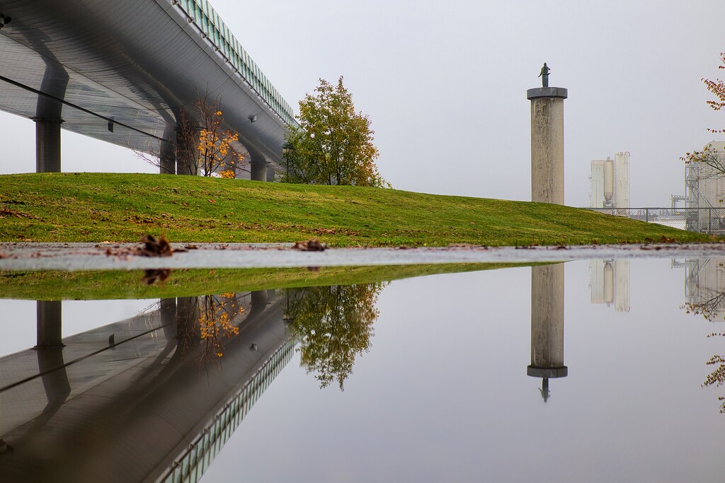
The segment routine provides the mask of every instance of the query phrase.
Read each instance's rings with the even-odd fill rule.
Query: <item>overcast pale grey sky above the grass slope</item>
[[[679,156],[725,127],[701,77],[725,77],[722,0],[212,0],[278,91],[344,75],[394,188],[528,201],[526,89],[565,87],[566,203],[589,161],[630,151],[631,205],[684,192]],[[295,109],[297,112],[297,109]],[[35,169],[34,126],[0,113],[0,172]],[[721,137],[722,138],[722,137]],[[63,171],[154,172],[125,148],[63,133]]]

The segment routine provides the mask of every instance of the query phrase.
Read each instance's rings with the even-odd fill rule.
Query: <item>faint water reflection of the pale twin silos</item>
[[[592,303],[614,304],[618,312],[629,312],[629,260],[589,261]]]

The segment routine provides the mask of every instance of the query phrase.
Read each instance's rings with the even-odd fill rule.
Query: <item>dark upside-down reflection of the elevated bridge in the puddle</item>
[[[199,298],[164,299],[63,345],[58,307],[39,302],[38,346],[0,359],[0,481],[199,479],[294,353],[272,294],[225,296],[245,310],[239,333],[213,346],[221,357],[189,337]]]

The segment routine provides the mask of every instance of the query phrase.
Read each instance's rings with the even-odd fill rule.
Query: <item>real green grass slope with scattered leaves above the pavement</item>
[[[711,240],[545,203],[173,175],[0,175],[0,241],[556,245]]]

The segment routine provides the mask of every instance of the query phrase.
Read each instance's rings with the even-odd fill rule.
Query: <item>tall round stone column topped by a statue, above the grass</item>
[[[564,204],[565,88],[549,87],[550,68],[544,62],[542,87],[528,89],[531,101],[531,201]]]

